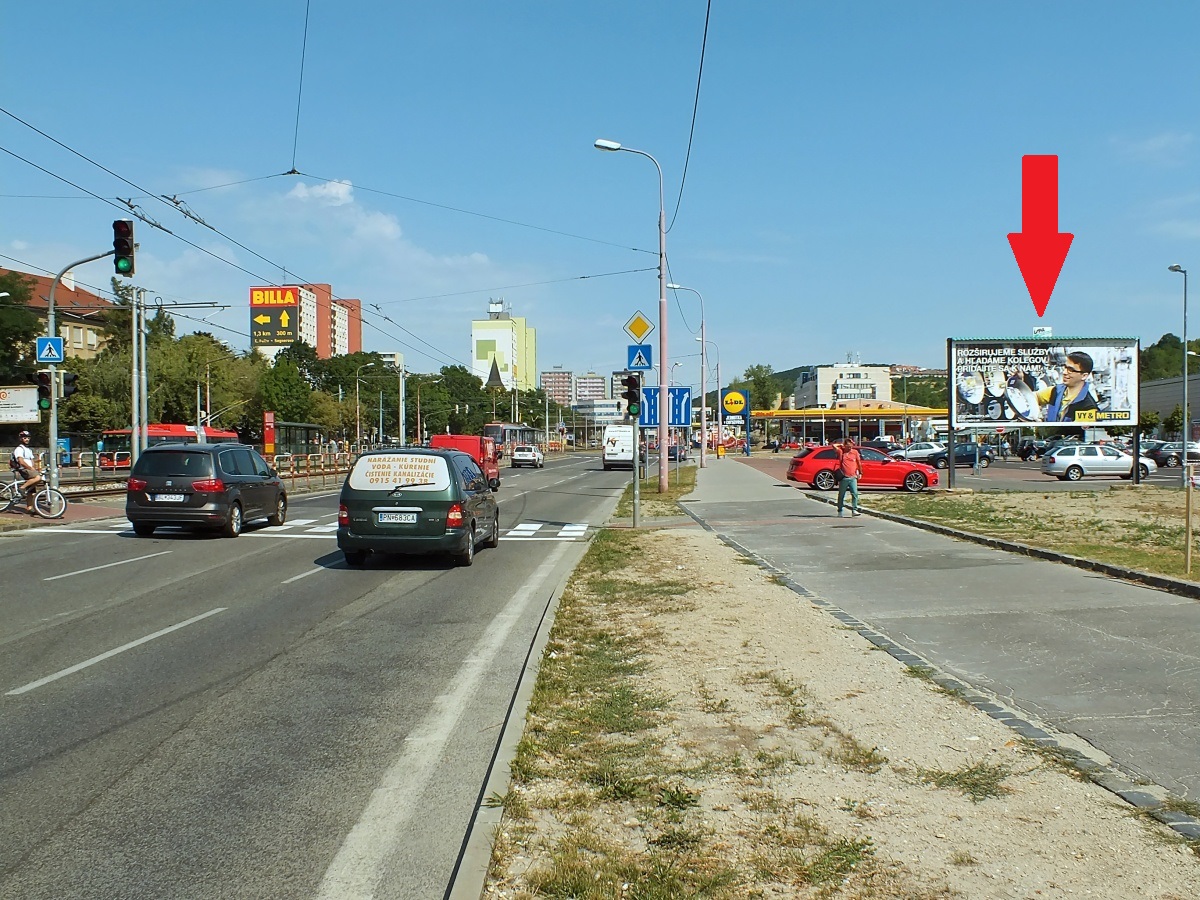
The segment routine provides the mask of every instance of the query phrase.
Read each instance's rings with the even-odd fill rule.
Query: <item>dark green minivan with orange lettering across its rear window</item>
[[[449,553],[470,565],[500,542],[500,511],[482,469],[458,450],[374,450],[354,461],[337,506],[347,565],[371,553]]]

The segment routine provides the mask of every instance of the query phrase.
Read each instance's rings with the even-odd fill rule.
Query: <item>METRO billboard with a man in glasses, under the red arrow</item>
[[[947,344],[952,428],[1138,424],[1136,337],[952,337]]]

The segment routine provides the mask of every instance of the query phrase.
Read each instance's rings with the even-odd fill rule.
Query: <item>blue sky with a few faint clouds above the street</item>
[[[1181,331],[1166,266],[1200,272],[1200,4],[716,0],[678,214],[702,0],[307,8],[298,132],[305,0],[10,5],[0,265],[104,251],[121,212],[91,194],[134,198],[176,235],[138,223],[136,283],[230,307],[181,331],[246,347],[250,286],[328,282],[364,301],[366,349],[433,371],[469,365],[469,322],[503,298],[539,368],[610,372],[625,320],[658,320],[658,176],[607,138],[662,167],[670,278],[703,294],[726,382],[938,367],[948,336],[1037,324]],[[1075,234],[1042,320],[1007,241],[1025,154],[1060,156]],[[698,319],[670,298],[694,385]]]

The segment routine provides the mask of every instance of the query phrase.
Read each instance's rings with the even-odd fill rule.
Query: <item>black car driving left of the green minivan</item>
[[[275,469],[246,444],[155,444],[130,472],[125,516],[140,536],[182,526],[236,538],[256,518],[283,524],[288,494]]]

